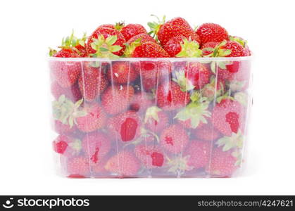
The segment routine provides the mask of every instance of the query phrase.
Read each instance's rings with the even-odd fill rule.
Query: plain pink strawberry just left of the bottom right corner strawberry
[[[208,141],[192,140],[184,157],[188,156],[187,165],[196,169],[206,167],[211,158],[211,143]]]

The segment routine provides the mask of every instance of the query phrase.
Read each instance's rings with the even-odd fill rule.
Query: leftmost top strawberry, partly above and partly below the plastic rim
[[[54,55],[54,57],[78,57],[78,55],[75,56],[72,55],[72,53],[63,53],[68,52],[68,50],[61,49],[59,52]],[[58,82],[61,87],[70,87],[75,84],[81,72],[80,62],[51,60],[49,66],[53,79],[56,79],[56,82]]]

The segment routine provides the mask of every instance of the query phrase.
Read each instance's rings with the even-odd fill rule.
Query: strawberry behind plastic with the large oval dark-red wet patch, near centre
[[[120,113],[108,119],[106,125],[108,132],[113,134],[116,139],[122,141],[133,141],[140,135],[141,121],[139,115],[134,111]]]

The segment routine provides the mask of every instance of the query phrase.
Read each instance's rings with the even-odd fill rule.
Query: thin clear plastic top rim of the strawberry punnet
[[[204,57],[196,57],[196,58],[61,58],[61,57],[48,57],[47,60],[56,60],[56,61],[101,61],[101,62],[112,62],[112,61],[139,61],[139,60],[169,60],[169,61],[239,61],[239,60],[251,60],[253,56],[241,56],[241,57],[211,57],[211,58],[204,58]]]

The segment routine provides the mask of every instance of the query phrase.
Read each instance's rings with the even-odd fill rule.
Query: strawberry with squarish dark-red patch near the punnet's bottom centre
[[[158,146],[138,145],[134,148],[134,153],[148,169],[163,167],[165,165],[164,153]]]

